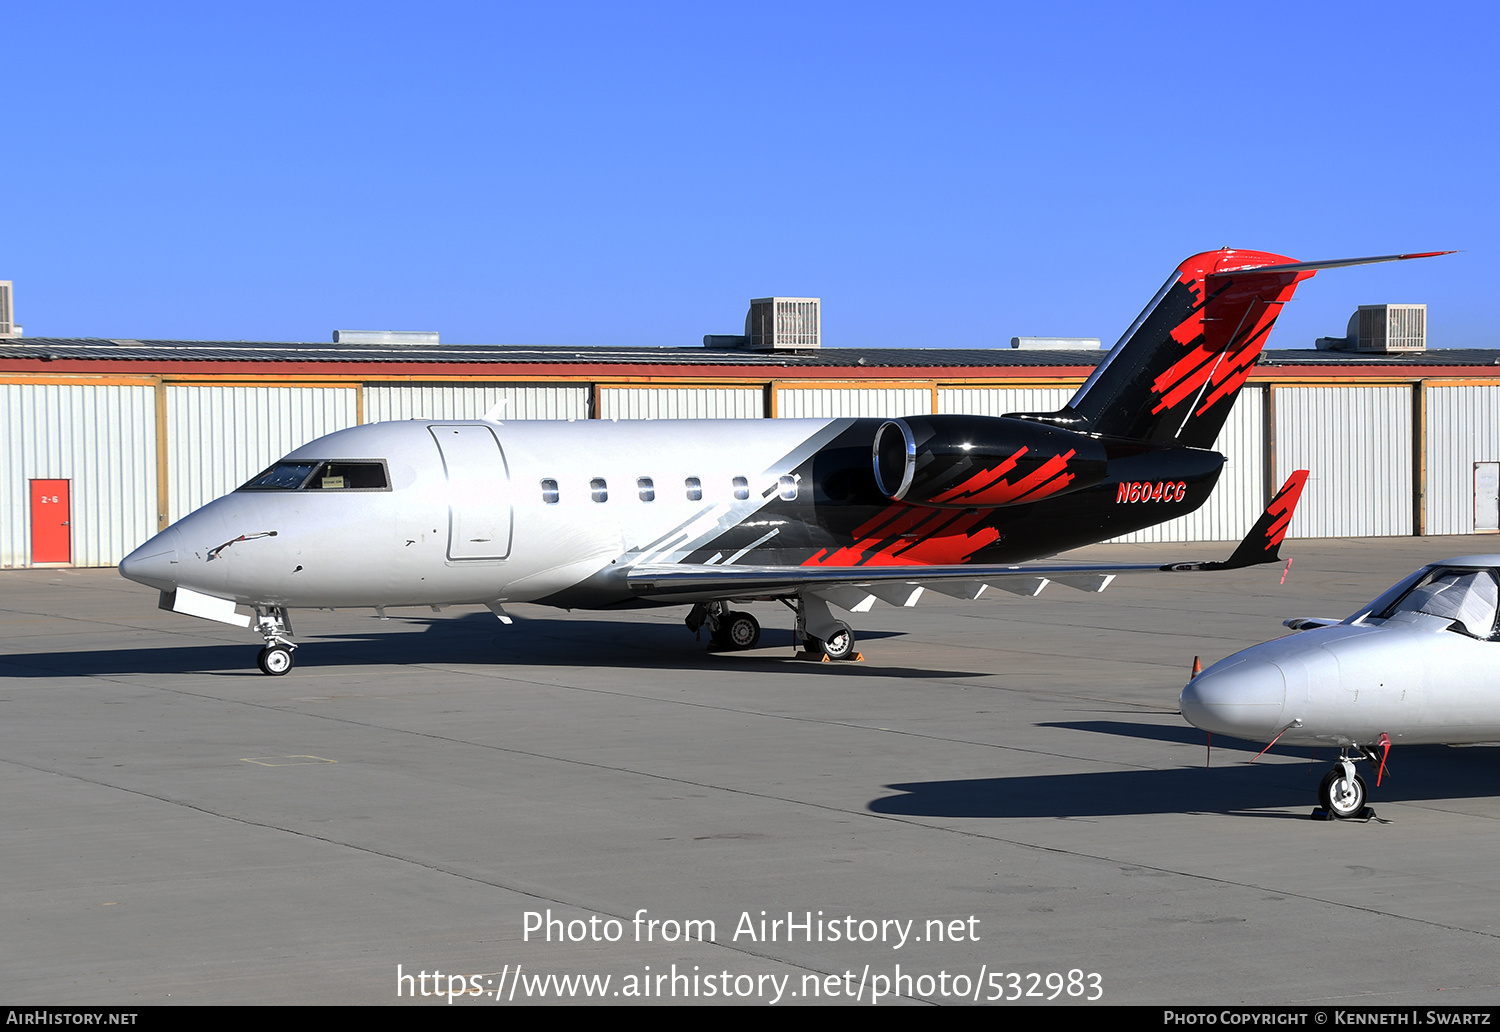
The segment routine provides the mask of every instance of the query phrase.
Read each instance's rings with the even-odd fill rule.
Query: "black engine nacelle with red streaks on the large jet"
[[[892,501],[938,508],[1020,506],[1104,480],[1090,436],[994,416],[908,416],[874,432],[874,483]]]

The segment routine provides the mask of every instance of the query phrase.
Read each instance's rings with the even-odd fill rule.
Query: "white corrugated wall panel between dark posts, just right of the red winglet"
[[[1276,387],[1276,476],[1308,470],[1290,537],[1412,532],[1412,388]]]

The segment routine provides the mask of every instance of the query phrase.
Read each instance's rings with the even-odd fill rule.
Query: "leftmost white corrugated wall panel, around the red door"
[[[0,566],[32,562],[32,480],[70,480],[74,566],[156,532],[152,387],[0,384]]]

